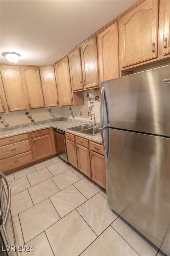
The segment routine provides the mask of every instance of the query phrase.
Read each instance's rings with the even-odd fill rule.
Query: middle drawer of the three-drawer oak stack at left
[[[24,152],[30,151],[30,143],[29,140],[13,143],[10,145],[2,146],[0,148],[1,159],[19,155]]]

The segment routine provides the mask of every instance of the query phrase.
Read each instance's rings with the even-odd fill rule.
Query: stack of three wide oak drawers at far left
[[[4,174],[33,162],[28,134],[1,139],[1,172]]]

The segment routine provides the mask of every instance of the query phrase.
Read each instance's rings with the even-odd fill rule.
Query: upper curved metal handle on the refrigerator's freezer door
[[[104,124],[104,103],[106,106],[107,124]],[[101,91],[101,127],[102,128],[106,128],[110,126],[108,120],[109,120],[108,103],[107,103],[107,98],[105,93],[105,87],[102,87],[102,91]]]

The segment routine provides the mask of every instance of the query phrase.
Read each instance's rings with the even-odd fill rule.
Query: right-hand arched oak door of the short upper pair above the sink
[[[99,87],[96,37],[81,46],[81,60],[84,88]]]

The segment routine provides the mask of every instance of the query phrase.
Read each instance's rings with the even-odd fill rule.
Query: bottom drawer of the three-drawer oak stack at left
[[[1,160],[1,172],[33,162],[31,151]]]

